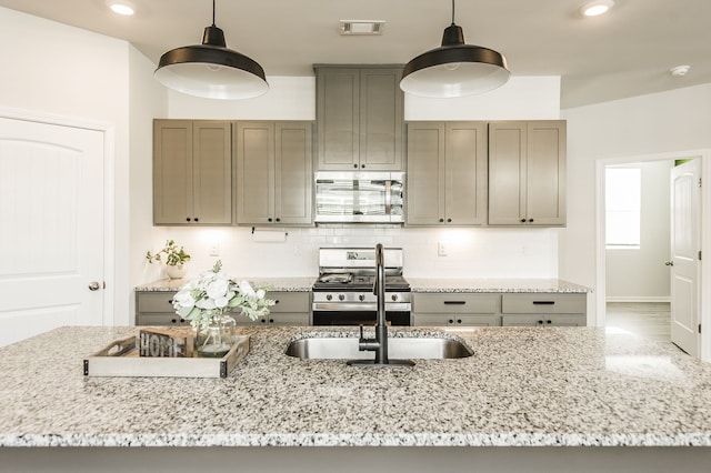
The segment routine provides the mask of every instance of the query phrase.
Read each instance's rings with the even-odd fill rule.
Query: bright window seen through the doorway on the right
[[[605,168],[607,248],[639,249],[641,180],[640,168]]]

